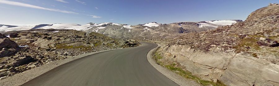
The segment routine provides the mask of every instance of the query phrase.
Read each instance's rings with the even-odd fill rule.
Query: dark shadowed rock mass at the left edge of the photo
[[[15,54],[18,45],[8,37],[0,33],[0,58]]]

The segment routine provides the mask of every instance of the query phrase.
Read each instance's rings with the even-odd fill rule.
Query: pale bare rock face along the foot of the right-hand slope
[[[279,66],[250,54],[205,53],[187,45],[162,46],[159,51],[166,62],[179,62],[204,80],[217,79],[229,86],[279,85]]]

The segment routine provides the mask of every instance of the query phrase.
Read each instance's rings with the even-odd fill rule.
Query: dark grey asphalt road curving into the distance
[[[22,86],[178,86],[147,61],[147,53],[157,45],[141,43],[79,58]]]

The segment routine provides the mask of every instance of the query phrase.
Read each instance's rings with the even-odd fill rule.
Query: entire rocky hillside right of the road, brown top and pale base
[[[230,86],[279,85],[278,9],[271,4],[244,22],[182,34],[158,50],[161,60],[178,62],[202,79]]]

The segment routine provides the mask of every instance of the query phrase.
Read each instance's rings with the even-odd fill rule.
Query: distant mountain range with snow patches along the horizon
[[[232,25],[242,20],[214,20],[202,22],[180,22],[158,24],[156,22],[127,25],[116,23],[79,24],[40,24],[33,26],[0,25],[0,32],[29,30],[29,29],[73,29],[84,32],[97,32],[108,37],[119,39],[146,39],[149,37],[171,37],[177,33],[201,32],[215,29],[219,26]]]

